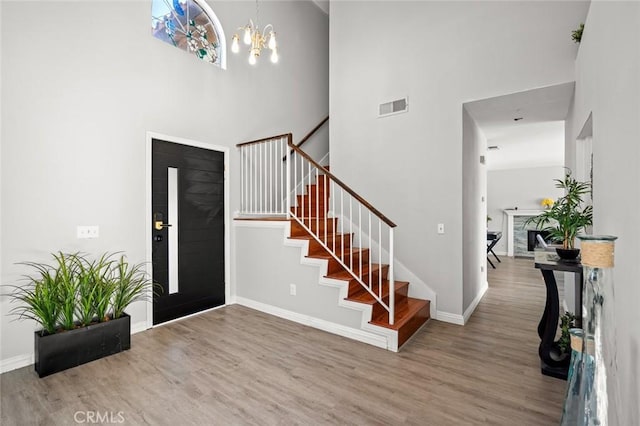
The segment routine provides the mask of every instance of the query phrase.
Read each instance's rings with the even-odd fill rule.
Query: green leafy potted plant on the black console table
[[[552,240],[562,243],[563,249],[573,249],[576,235],[593,223],[593,208],[582,207],[583,196],[591,191],[589,182],[579,182],[568,170],[564,179],[555,179],[556,188],[565,190],[565,195],[538,216],[529,218],[525,224],[534,223],[538,229],[547,231]]]

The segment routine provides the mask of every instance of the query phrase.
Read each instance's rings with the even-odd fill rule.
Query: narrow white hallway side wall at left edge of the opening
[[[467,311],[487,288],[487,138],[466,108],[462,109],[462,309]],[[471,309],[475,309],[472,307]]]

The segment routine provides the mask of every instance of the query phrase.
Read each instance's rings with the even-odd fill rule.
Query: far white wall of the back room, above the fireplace
[[[504,209],[539,210],[543,198],[558,199],[564,195],[553,179],[563,179],[562,166],[526,169],[489,170],[487,173],[487,214],[491,217],[489,230],[502,231],[494,251],[507,252],[507,218]]]

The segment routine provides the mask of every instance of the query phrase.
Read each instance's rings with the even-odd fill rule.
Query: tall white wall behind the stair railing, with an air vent
[[[586,11],[582,2],[331,5],[332,171],[398,224],[397,258],[438,293],[438,311],[460,315],[464,305],[461,106],[572,81],[569,35]],[[383,34],[375,42],[373,29]],[[376,117],[379,103],[407,95],[408,113]]]

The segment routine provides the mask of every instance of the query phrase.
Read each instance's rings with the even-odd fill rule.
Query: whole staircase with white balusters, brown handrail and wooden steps
[[[397,351],[427,322],[430,302],[409,297],[409,283],[395,280],[396,225],[292,139],[288,133],[237,145],[240,214],[289,220],[289,239],[306,241],[306,257],[325,261],[321,282],[339,286],[344,306],[363,313],[362,329]]]

